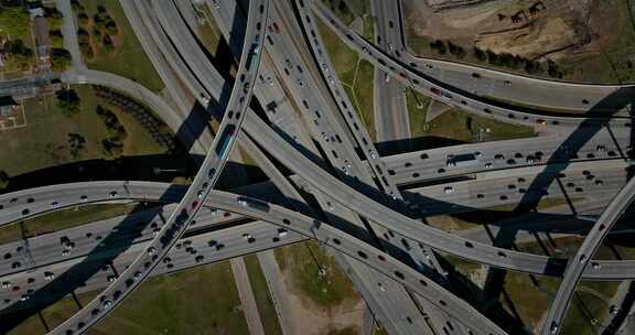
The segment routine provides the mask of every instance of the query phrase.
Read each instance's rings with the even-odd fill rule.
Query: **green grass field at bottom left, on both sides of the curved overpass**
[[[80,294],[79,301],[86,303],[95,294]],[[73,300],[64,299],[42,314],[53,327],[74,311]],[[34,315],[10,334],[44,332]],[[248,334],[248,329],[229,263],[220,262],[149,279],[89,334],[222,335]]]

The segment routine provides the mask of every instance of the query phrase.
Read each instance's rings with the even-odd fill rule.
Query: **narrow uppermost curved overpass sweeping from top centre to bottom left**
[[[249,4],[244,54],[237,72],[238,80],[232,89],[219,127],[219,136],[214,139],[212,149],[176,209],[152,239],[146,252],[139,255],[132,264],[99,295],[50,334],[84,333],[106,316],[160,263],[201,208],[197,198],[204,201],[218,180],[235,142],[236,132],[240,130],[245,119],[260,64],[259,51],[265,40],[261,30],[267,24],[268,6],[268,0],[255,0]]]

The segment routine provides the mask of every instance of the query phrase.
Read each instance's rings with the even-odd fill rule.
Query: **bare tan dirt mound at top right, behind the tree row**
[[[406,0],[410,33],[495,53],[558,58],[589,46],[593,0]]]

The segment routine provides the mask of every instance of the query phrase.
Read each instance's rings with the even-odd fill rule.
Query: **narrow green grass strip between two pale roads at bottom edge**
[[[282,334],[282,328],[280,327],[280,322],[278,321],[278,314],[276,313],[276,306],[271,300],[267,280],[265,279],[265,274],[262,273],[262,269],[260,268],[260,263],[258,262],[256,255],[245,257],[245,264],[247,266],[249,282],[251,283],[251,290],[254,291],[254,295],[256,298],[256,304],[258,305],[260,321],[265,327],[265,334]]]

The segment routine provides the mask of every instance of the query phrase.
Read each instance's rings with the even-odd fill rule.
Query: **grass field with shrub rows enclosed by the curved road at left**
[[[74,85],[72,88],[82,102],[80,111],[71,117],[62,114],[54,95],[22,101],[26,127],[0,132],[0,140],[4,143],[4,149],[0,150],[0,170],[15,176],[50,166],[106,158],[101,140],[107,138],[107,130],[95,112],[100,100],[95,97],[90,86]],[[119,117],[128,133],[123,155],[165,153],[165,149],[157,144],[132,117],[118,108],[109,108]],[[85,150],[79,156],[71,154],[69,133],[80,134],[86,140]]]

